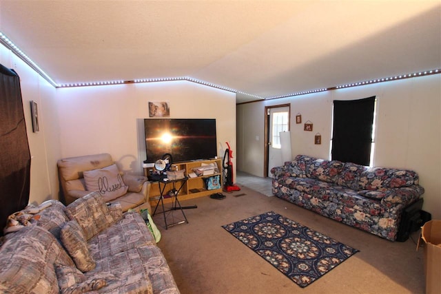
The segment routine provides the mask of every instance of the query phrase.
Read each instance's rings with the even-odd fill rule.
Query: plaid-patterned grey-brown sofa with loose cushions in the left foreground
[[[179,293],[143,218],[98,192],[14,214],[3,237],[0,293]]]

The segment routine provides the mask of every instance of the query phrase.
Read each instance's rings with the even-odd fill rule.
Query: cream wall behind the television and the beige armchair
[[[187,81],[57,89],[61,157],[109,153],[142,174],[149,101],[170,103],[170,118],[216,118],[218,156],[236,148],[236,95]]]

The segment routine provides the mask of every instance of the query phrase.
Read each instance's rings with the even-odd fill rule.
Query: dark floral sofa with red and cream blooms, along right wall
[[[391,241],[403,209],[424,193],[415,171],[305,155],[272,168],[271,174],[275,196]]]

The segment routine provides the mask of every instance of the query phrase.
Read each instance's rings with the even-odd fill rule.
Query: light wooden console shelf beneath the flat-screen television
[[[202,165],[210,165],[214,163],[218,167],[218,172],[205,176],[196,176],[196,178],[191,178],[189,174],[192,174],[194,168],[201,167]],[[178,193],[179,201],[189,200],[193,198],[209,196],[213,193],[222,193],[223,191],[223,180],[222,180],[222,160],[220,159],[212,159],[212,160],[194,160],[194,161],[186,161],[186,162],[178,162],[173,163],[173,166],[177,166],[178,170],[185,170],[185,176],[187,176],[187,182],[183,185],[181,191]],[[145,169],[144,169],[145,171]],[[146,171],[145,171],[146,174]],[[220,180],[220,189],[207,190],[207,186],[205,185],[205,178],[209,178],[212,176],[219,176]],[[168,195],[170,189],[172,189],[172,185],[167,185],[164,195]],[[152,207],[156,206],[156,203],[159,201],[161,193],[159,191],[158,182],[152,182],[150,185],[150,205]],[[164,203],[172,202],[172,197],[164,198]]]

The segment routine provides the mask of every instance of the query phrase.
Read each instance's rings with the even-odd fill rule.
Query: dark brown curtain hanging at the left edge
[[[8,216],[29,202],[30,150],[20,78],[0,64],[0,235]]]

